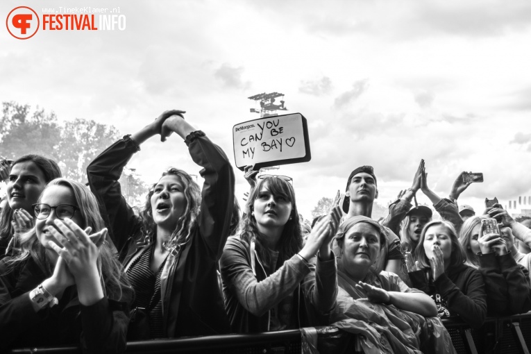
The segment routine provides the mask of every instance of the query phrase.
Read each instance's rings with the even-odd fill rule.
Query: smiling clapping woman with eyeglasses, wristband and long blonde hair
[[[0,261],[0,352],[62,345],[124,351],[133,290],[110,251],[96,198],[81,183],[57,178],[33,208],[35,227]]]

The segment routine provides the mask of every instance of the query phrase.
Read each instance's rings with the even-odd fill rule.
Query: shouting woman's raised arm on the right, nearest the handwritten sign
[[[199,230],[215,260],[219,260],[228,237],[234,208],[235,177],[233,167],[219,146],[196,130],[180,115],[173,115],[162,125],[162,135],[170,131],[185,140],[194,162],[203,167],[205,179],[201,192]]]

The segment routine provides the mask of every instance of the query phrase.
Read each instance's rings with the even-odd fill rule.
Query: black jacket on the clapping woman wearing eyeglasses
[[[94,305],[79,303],[76,285],[67,287],[59,305],[38,312],[28,292],[45,276],[32,258],[14,268],[0,260],[0,353],[24,346],[81,344],[84,353],[121,353],[126,348],[128,305],[102,298]]]

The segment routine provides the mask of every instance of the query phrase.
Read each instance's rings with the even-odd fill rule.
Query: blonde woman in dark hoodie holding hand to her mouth
[[[412,285],[435,300],[439,317],[459,316],[471,327],[480,327],[487,317],[483,277],[466,264],[466,253],[453,224],[426,224],[414,258],[416,264],[409,264]]]

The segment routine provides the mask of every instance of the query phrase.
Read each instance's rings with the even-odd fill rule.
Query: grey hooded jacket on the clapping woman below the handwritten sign
[[[267,276],[258,253],[239,236],[229,237],[221,257],[226,311],[233,332],[267,332],[271,308],[294,294],[293,328],[328,325],[335,307],[335,256],[305,263],[298,255]],[[333,253],[332,253],[333,255]]]

